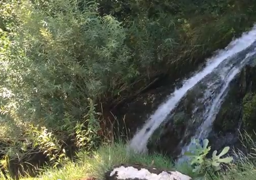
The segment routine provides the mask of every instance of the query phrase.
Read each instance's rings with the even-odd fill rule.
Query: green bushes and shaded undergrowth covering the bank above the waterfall
[[[79,149],[95,150],[106,133],[101,107],[115,106],[160,76],[193,71],[250,29],[255,5],[1,1],[3,171],[11,167],[14,176],[25,165],[59,166]]]

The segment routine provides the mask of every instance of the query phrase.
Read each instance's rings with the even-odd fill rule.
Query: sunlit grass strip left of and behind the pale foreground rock
[[[62,168],[46,168],[35,177],[22,177],[23,180],[73,180],[83,179],[88,177],[96,177],[102,179],[104,172],[108,171],[112,166],[123,164],[139,163],[146,166],[154,166],[158,168],[171,169],[172,162],[159,154],[142,155],[135,153],[127,153],[126,145],[117,143],[111,146],[103,146],[91,155],[78,153],[77,160],[69,161]],[[0,175],[0,180],[9,180],[11,177],[3,177]]]

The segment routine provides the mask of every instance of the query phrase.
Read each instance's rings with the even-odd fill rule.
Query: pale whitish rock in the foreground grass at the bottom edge
[[[190,180],[178,171],[167,171],[138,165],[120,165],[105,173],[105,180]]]

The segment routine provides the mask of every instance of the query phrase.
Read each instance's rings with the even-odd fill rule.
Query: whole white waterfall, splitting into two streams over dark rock
[[[255,55],[256,26],[244,33],[241,38],[232,41],[226,49],[208,60],[205,68],[193,77],[185,80],[181,88],[176,89],[170,97],[162,103],[145,125],[131,140],[129,148],[140,153],[147,150],[146,145],[154,131],[166,118],[172,115],[172,111],[179,105],[184,96],[196,86],[206,86],[203,97],[197,99],[203,104],[204,111],[197,112],[195,106],[193,113],[201,119],[201,126],[195,133],[195,138],[205,138],[210,131],[212,121],[219,111],[219,107],[228,91],[229,82],[240,72],[241,68]],[[197,116],[196,116],[197,115]],[[191,143],[183,147],[182,152],[188,149]]]

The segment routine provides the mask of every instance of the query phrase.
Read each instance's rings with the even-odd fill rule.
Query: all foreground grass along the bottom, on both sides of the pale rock
[[[104,172],[108,171],[114,165],[123,164],[142,164],[146,166],[154,166],[156,168],[163,168],[169,170],[178,170],[181,173],[187,174],[193,179],[198,174],[193,174],[192,167],[188,164],[180,164],[173,166],[172,162],[161,154],[134,154],[127,153],[126,145],[123,143],[116,143],[112,145],[105,145],[100,147],[93,154],[88,155],[84,152],[79,152],[78,158],[74,161],[68,161],[63,164],[61,168],[45,168],[41,170],[37,177],[20,177],[21,180],[86,180],[90,177],[96,179],[103,179]],[[225,172],[212,177],[214,180],[253,180],[256,179],[256,166],[254,161],[256,156],[251,154],[244,156],[242,153],[237,153],[238,159],[236,164],[230,164]],[[4,177],[0,174],[0,180],[11,180],[10,176]],[[206,179],[210,179],[207,177]]]

